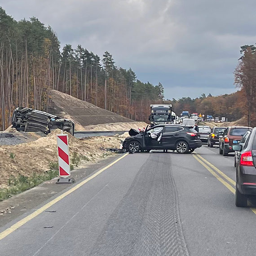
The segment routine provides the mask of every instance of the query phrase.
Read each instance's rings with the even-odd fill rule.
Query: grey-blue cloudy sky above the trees
[[[161,82],[165,97],[236,90],[243,44],[256,43],[255,0],[0,0],[16,20],[35,16],[59,40],[81,44],[137,78]]]

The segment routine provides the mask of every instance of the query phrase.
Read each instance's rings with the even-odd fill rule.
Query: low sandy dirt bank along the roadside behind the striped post
[[[50,162],[57,162],[57,138],[60,130],[51,132],[47,137],[40,137],[36,141],[16,146],[0,147],[0,188],[8,185],[11,175],[31,176],[49,170]],[[127,134],[124,135],[124,137]],[[90,163],[112,154],[102,148],[119,148],[119,137],[90,137],[77,139],[69,136],[70,159],[74,152],[80,156],[80,164],[75,168],[84,168]],[[123,136],[120,136],[123,137]]]

